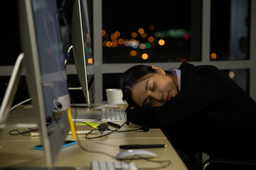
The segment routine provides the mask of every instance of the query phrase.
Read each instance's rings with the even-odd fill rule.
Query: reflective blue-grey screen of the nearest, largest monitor
[[[44,103],[47,118],[50,118],[50,115],[54,113],[53,111],[59,109],[60,104],[65,104],[65,102],[60,103],[60,98],[63,98],[63,100],[69,98],[63,43],[60,37],[58,18],[55,18],[58,9],[55,1],[33,0],[31,2]],[[58,108],[55,108],[55,106]],[[69,106],[62,107],[67,108]]]

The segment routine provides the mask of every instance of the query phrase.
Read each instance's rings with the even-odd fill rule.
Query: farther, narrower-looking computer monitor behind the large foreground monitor
[[[87,0],[75,0],[72,16],[72,44],[75,68],[90,108],[95,96],[95,77],[93,73],[92,45],[88,18]]]

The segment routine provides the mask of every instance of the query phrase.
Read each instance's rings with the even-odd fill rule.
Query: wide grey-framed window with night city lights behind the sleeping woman
[[[94,26],[94,35],[102,35],[102,39],[95,38],[95,45],[102,46],[102,51],[95,50],[96,72],[100,78],[97,84],[102,89],[96,92],[96,101],[105,100],[105,88],[118,86],[122,72],[135,64],[156,64],[163,69],[173,69],[178,68],[181,61],[215,65],[228,77],[235,74],[233,81],[256,99],[256,51],[250,48],[256,43],[256,13],[251,10],[256,8],[255,1],[160,0],[157,3],[121,3],[96,0],[95,8],[94,21],[102,21]],[[133,10],[129,12],[131,8]],[[99,10],[102,10],[100,16]],[[150,12],[144,12],[146,10]],[[150,30],[149,26],[154,26],[154,30]],[[143,47],[149,42],[142,38],[139,28],[143,28],[146,38],[154,38],[149,48],[139,48],[139,45]],[[182,30],[183,39],[172,37],[175,33],[181,33],[173,30]],[[137,38],[133,38],[132,33]],[[162,46],[156,43],[161,38],[164,40]],[[125,40],[128,40],[127,45],[122,44]],[[146,60],[142,58],[144,53]],[[111,82],[108,82],[110,79]]]

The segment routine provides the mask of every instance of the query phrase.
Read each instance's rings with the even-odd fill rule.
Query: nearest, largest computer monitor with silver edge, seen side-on
[[[21,48],[28,92],[41,132],[46,164],[52,167],[70,130],[70,96],[55,0],[19,0]],[[51,125],[48,133],[47,123]]]

